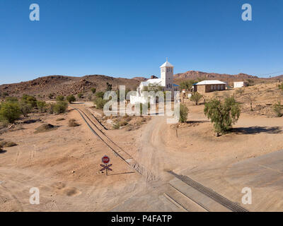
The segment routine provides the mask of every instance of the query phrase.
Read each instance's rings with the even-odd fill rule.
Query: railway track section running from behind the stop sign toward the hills
[[[71,106],[72,107],[72,106]],[[105,143],[105,145],[112,150],[112,152],[117,156],[120,157],[124,162],[127,163],[130,167],[132,167],[134,170],[136,170],[139,174],[146,177],[146,181],[155,180],[156,177],[154,174],[149,172],[146,168],[141,166],[132,155],[129,155],[124,149],[122,149],[117,143],[112,141],[112,139],[105,133],[103,130],[107,130],[103,124],[98,121],[98,119],[87,109],[84,109],[83,107],[77,107],[76,105],[72,107],[76,111],[79,112],[81,117],[83,118],[83,121],[86,122],[87,126],[91,131],[98,136],[98,138]]]

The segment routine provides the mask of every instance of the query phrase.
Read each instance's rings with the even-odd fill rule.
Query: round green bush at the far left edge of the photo
[[[1,104],[0,120],[13,123],[21,116],[21,109],[18,102],[4,102]]]

